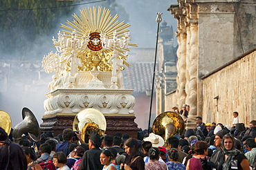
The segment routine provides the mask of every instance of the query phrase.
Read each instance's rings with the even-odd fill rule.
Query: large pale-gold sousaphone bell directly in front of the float
[[[86,108],[77,113],[73,121],[73,131],[80,131],[81,138],[88,143],[91,131],[98,131],[100,136],[107,129],[107,121],[104,115],[95,108]]]

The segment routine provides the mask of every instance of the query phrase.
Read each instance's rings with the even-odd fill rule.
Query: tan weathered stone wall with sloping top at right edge
[[[256,120],[255,64],[256,48],[202,78],[203,122],[231,125],[234,111],[246,125]]]

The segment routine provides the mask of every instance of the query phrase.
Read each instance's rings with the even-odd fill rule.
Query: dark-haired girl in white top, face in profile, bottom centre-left
[[[113,154],[105,149],[100,153],[100,163],[104,165],[102,170],[116,170],[116,166],[112,163]]]

